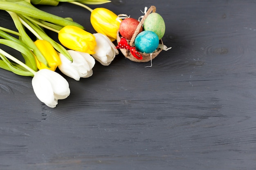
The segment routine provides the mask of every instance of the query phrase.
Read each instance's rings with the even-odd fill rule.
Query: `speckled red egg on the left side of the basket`
[[[139,21],[134,18],[126,18],[122,20],[120,26],[119,26],[119,33],[122,35],[122,37],[126,38],[127,40],[132,39],[132,35],[134,34],[137,26],[139,24]],[[142,26],[139,30],[139,33],[143,30]]]

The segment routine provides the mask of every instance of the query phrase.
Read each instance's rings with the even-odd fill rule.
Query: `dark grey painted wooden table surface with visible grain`
[[[150,5],[166,22],[164,44],[173,47],[152,67],[122,54],[110,66],[97,62],[90,78],[65,77],[71,95],[56,108],[37,99],[31,77],[0,70],[1,170],[256,169],[256,2],[90,7],[138,18]],[[37,7],[94,33],[81,7]],[[0,26],[14,28],[0,15]]]

